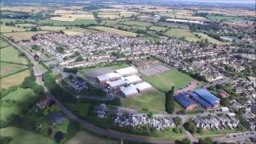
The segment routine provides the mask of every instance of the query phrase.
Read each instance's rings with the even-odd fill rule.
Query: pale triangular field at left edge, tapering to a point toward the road
[[[6,62],[0,62],[0,78],[9,74],[14,74],[19,70],[25,70],[27,66],[14,65]]]

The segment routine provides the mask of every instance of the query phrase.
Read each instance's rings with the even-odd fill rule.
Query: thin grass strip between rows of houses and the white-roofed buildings
[[[110,68],[110,69],[113,69],[113,70],[117,70],[117,69],[121,69],[121,68],[124,68],[124,67],[127,67],[129,66],[128,64],[126,63],[120,63],[120,64],[113,64],[111,66],[104,66],[104,65],[97,65],[95,67],[92,67],[92,68],[84,68],[84,69],[79,69],[78,72],[80,74],[88,74],[90,71],[93,71],[93,70],[100,70],[102,68]]]

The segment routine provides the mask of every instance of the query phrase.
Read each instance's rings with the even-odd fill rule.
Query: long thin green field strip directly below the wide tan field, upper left
[[[97,24],[97,22],[94,19],[76,19],[74,22],[65,22],[65,21],[56,21],[56,20],[50,20],[45,19],[42,21],[39,21],[39,24],[44,25],[53,25],[53,26],[75,26],[75,25],[90,25],[90,24]]]

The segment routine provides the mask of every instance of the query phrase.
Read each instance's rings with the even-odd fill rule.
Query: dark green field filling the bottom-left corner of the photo
[[[13,138],[9,144],[28,144],[28,143],[38,143],[38,144],[50,144],[54,143],[50,138],[43,137],[40,134],[36,134],[29,130],[20,129],[13,126],[8,126],[6,128],[0,129],[1,136],[8,136]]]

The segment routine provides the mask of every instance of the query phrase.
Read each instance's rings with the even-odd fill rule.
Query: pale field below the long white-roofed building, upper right
[[[170,29],[170,30],[167,30],[165,34],[171,38],[185,37],[185,39],[190,42],[200,41],[200,39],[195,37],[195,35],[191,33],[190,30],[186,30],[186,29]]]

